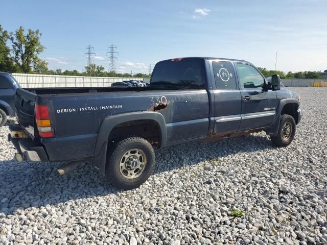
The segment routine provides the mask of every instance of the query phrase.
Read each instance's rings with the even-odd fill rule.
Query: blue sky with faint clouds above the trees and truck
[[[164,59],[245,59],[284,71],[327,69],[327,1],[5,1],[0,23],[39,29],[51,69],[82,70],[86,46],[108,68],[147,73]]]

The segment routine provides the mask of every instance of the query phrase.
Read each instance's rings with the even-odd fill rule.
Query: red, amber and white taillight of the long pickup
[[[53,137],[49,109],[47,106],[35,104],[35,119],[39,135],[42,138]]]

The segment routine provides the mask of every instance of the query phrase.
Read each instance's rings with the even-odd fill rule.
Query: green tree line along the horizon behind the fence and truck
[[[107,72],[102,65],[96,64],[85,66],[85,71],[83,72],[78,70],[63,71],[61,69],[49,70],[48,62],[38,57],[45,49],[40,42],[41,35],[39,30],[28,29],[27,33],[25,33],[23,27],[9,33],[0,25],[0,71],[65,76],[131,77],[131,74],[127,73]],[[258,67],[258,69],[265,77],[277,74],[282,79],[321,78],[317,71],[298,71],[294,73],[289,71],[285,73],[281,70],[268,70],[262,67]],[[324,72],[327,72],[327,70],[324,70]],[[138,73],[132,77],[146,78],[149,75]]]

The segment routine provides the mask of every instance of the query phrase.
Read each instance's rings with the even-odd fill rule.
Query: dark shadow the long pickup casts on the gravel
[[[274,149],[274,146],[263,134],[174,145],[156,151],[157,165],[154,175],[229,154],[264,149]],[[114,198],[116,194],[127,192],[112,187],[105,176],[89,163],[80,165],[64,176],[57,173],[57,168],[61,165],[0,161],[0,216],[1,213],[12,214],[17,209],[56,205],[67,201],[79,202],[80,199],[99,196],[110,198],[112,195]]]

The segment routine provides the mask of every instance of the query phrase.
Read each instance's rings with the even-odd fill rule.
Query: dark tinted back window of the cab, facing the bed
[[[202,62],[199,59],[173,59],[158,62],[150,86],[167,89],[204,88]]]

